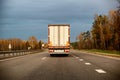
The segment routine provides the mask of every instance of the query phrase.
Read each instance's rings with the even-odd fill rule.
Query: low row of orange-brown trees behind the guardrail
[[[34,36],[29,37],[28,40],[18,38],[0,39],[0,51],[41,49],[42,44],[43,42],[38,41]]]

